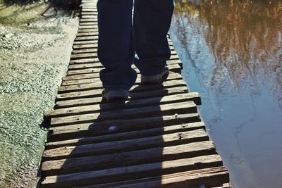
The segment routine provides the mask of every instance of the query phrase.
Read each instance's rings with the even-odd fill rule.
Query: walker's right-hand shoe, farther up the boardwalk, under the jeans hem
[[[164,68],[164,71],[162,73],[159,73],[158,75],[152,75],[152,76],[145,76],[141,75],[141,83],[142,84],[161,84],[162,82],[166,81],[169,75],[168,67]]]

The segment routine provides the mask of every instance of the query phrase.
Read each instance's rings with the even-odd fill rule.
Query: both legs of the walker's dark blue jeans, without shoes
[[[157,75],[171,56],[166,35],[173,15],[173,0],[99,0],[98,58],[104,65],[100,79],[105,89],[130,89],[137,73]]]

